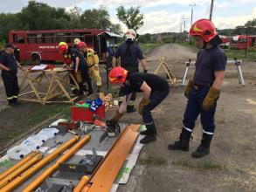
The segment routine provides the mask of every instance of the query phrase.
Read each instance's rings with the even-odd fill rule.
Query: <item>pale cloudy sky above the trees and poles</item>
[[[27,0],[0,0],[0,12],[17,12],[28,4]],[[186,30],[190,27],[190,4],[194,7],[193,21],[208,18],[211,0],[40,0],[54,7],[64,7],[66,10],[79,6],[82,10],[99,8],[103,5],[110,13],[113,23],[121,24],[116,14],[116,8],[124,5],[141,6],[144,14],[144,25],[139,33],[157,33],[180,31],[183,18],[186,18]],[[256,18],[256,0],[215,0],[212,21],[218,29],[233,28]],[[123,29],[126,30],[125,26]]]

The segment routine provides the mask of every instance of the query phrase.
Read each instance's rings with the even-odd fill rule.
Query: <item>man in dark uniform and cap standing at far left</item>
[[[9,106],[17,105],[17,94],[19,92],[17,82],[17,67],[22,69],[22,66],[14,57],[15,46],[11,44],[5,45],[5,51],[0,55],[0,69],[3,79],[3,85]]]

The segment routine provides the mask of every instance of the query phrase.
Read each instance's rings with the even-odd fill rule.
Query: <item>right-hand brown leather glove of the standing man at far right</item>
[[[215,100],[218,99],[219,94],[220,94],[220,91],[218,89],[211,87],[209,92],[207,93],[207,95],[204,98],[202,108],[205,111],[208,111],[209,109],[211,109]]]

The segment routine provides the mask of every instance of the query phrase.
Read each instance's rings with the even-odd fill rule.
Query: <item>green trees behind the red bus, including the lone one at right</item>
[[[140,7],[130,7],[127,10],[120,6],[116,16],[128,28],[138,30],[143,24],[143,14]],[[107,9],[103,6],[97,9],[82,11],[74,6],[70,10],[54,8],[46,3],[29,1],[28,5],[17,13],[0,13],[0,42],[8,42],[10,30],[67,30],[67,29],[103,29],[122,34],[121,24],[113,24]]]

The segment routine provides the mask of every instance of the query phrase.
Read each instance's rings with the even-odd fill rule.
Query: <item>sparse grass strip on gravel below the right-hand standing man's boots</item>
[[[171,164],[177,167],[182,167],[182,168],[194,168],[194,169],[209,170],[209,171],[219,171],[219,170],[225,169],[225,167],[218,164],[218,162],[212,162],[212,161],[190,162],[186,160],[178,160],[178,161],[172,161]]]

